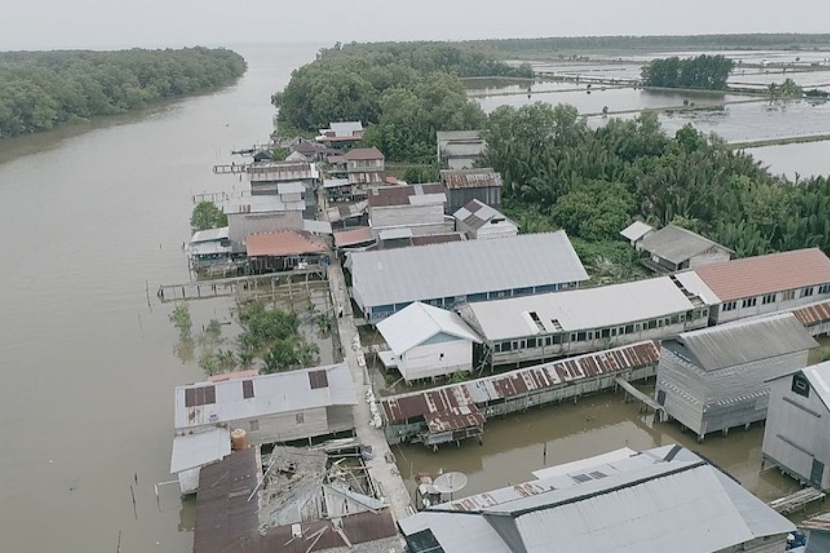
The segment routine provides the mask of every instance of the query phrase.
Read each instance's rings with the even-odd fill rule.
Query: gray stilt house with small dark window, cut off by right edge
[[[830,361],[769,381],[761,453],[802,483],[830,492]]]

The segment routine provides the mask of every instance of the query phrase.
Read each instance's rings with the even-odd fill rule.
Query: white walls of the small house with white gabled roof
[[[406,381],[452,375],[471,369],[472,342],[469,340],[416,346],[404,353],[398,362],[398,370]]]

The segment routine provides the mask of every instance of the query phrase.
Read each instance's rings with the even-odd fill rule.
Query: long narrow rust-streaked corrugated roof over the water
[[[500,375],[486,376],[474,381],[434,390],[425,390],[407,395],[395,395],[382,400],[383,414],[390,423],[411,418],[423,417],[432,430],[432,421],[443,428],[445,419],[461,417],[447,424],[464,424],[466,427],[475,422],[474,413],[481,415],[476,404],[492,400],[509,399],[525,395],[531,390],[543,390],[564,383],[579,381],[583,378],[626,371],[642,366],[657,365],[660,349],[656,342],[640,342],[631,346],[618,347],[604,352],[589,353],[544,365],[530,366],[518,371],[505,372]],[[461,412],[462,406],[469,406],[470,414]],[[447,413],[447,415],[444,415]],[[465,417],[467,417],[465,419]],[[469,418],[473,417],[473,418]],[[483,422],[483,417],[481,422]]]

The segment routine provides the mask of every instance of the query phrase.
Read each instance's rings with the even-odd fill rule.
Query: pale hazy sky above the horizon
[[[830,32],[827,0],[0,0],[0,50]]]

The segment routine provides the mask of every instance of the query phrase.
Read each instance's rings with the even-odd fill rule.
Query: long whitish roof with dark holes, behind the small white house
[[[501,242],[503,240],[493,240]],[[470,303],[464,308],[488,340],[615,327],[693,309],[669,277],[522,298]],[[536,323],[531,313],[535,313]],[[554,324],[554,321],[557,323]],[[540,329],[539,324],[544,327]]]

